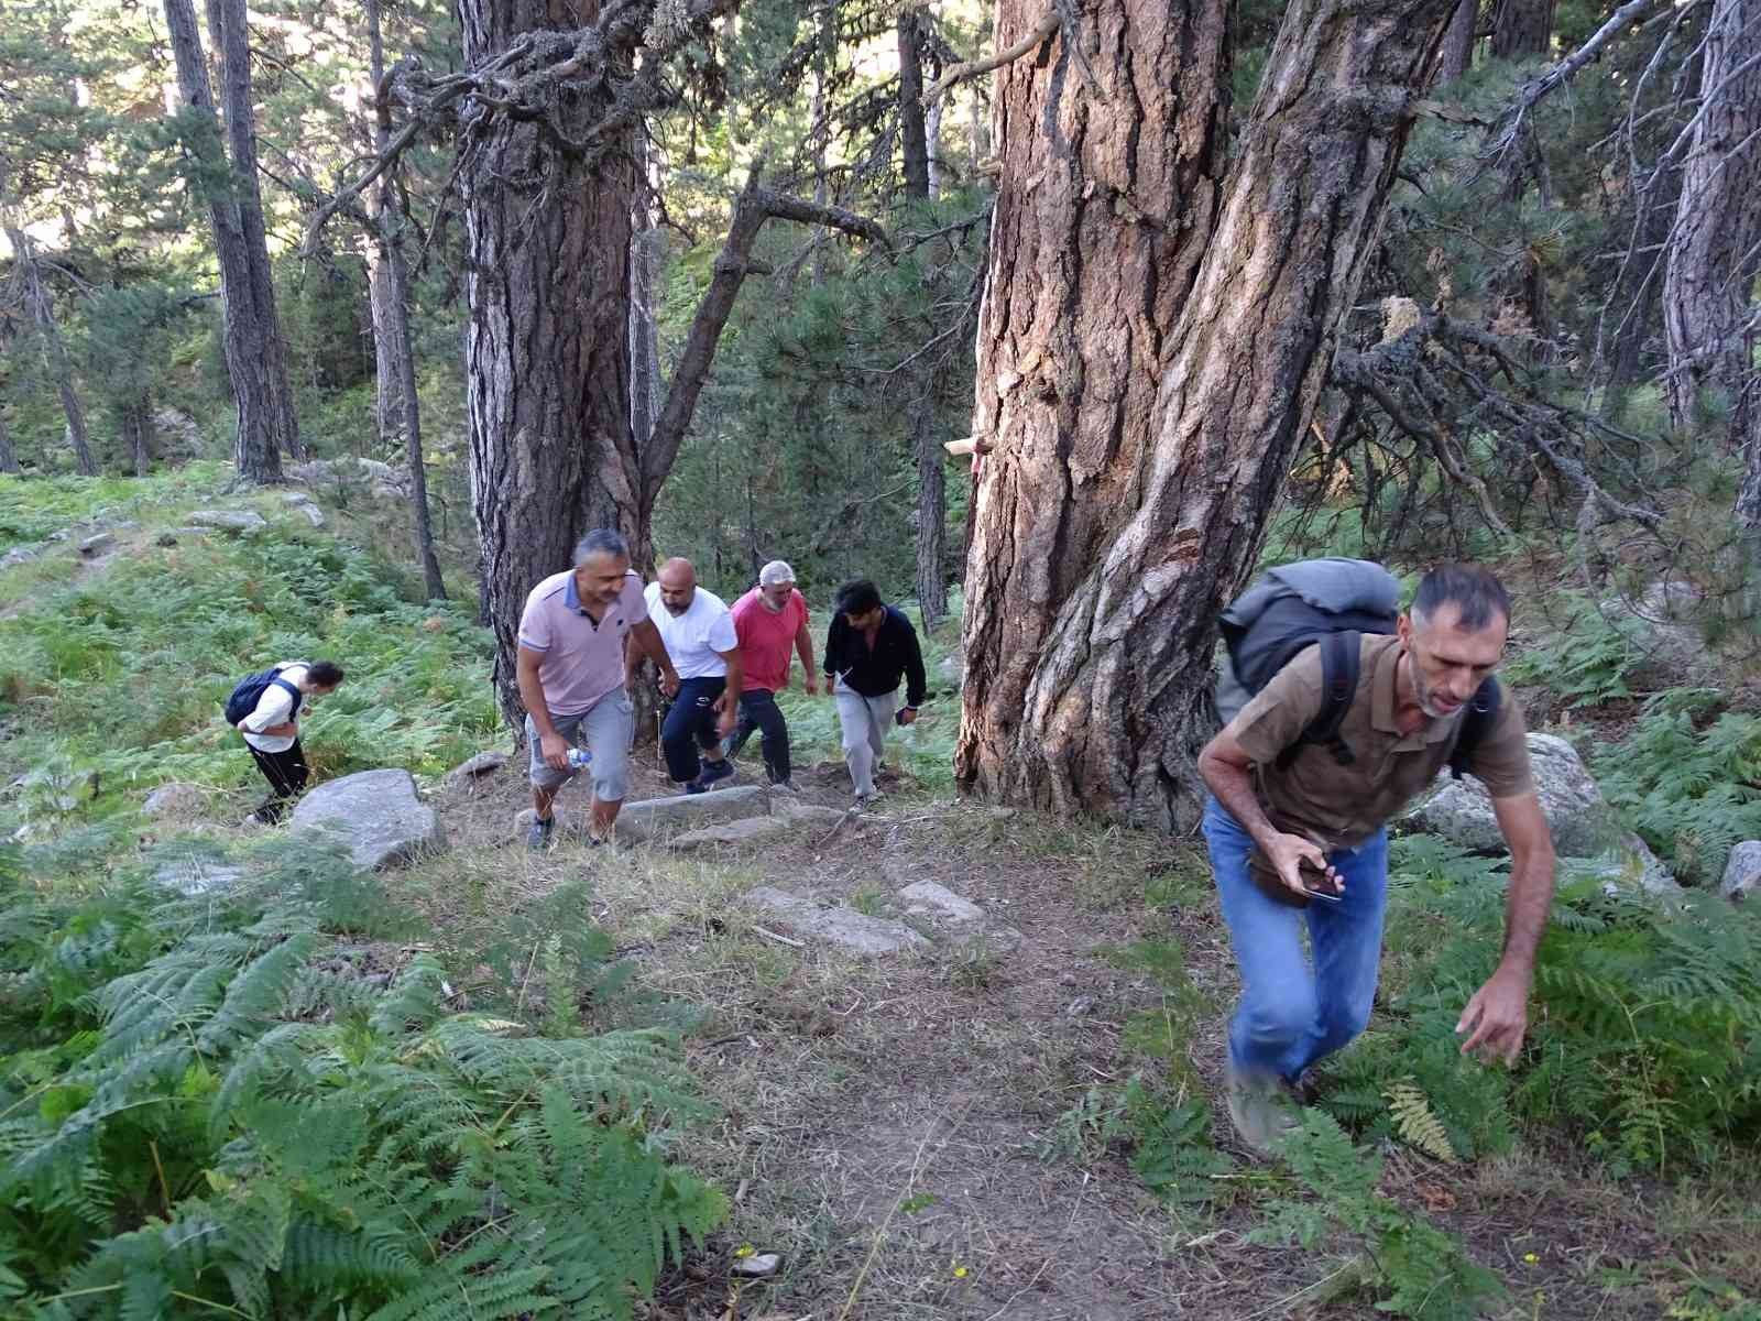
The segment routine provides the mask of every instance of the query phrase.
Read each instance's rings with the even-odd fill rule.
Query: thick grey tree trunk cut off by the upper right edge
[[[1691,430],[1703,389],[1729,410],[1726,442],[1761,433],[1750,366],[1761,245],[1761,0],[1717,0],[1699,74],[1699,122],[1664,271],[1669,419]],[[1761,456],[1750,458],[1750,467]]]

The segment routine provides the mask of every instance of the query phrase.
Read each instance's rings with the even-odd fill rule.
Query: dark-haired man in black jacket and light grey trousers
[[[844,726],[844,764],[851,768],[856,801],[877,796],[875,764],[893,724],[900,680],[905,705],[898,724],[912,724],[923,705],[923,650],[905,611],[886,604],[866,578],[838,588],[831,627],[826,629],[826,692],[838,703]]]

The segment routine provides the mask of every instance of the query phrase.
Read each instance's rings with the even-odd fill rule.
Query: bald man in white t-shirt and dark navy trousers
[[[722,740],[740,713],[740,641],[734,616],[715,592],[697,587],[690,560],[667,560],[648,585],[648,618],[678,669],[678,690],[660,726],[667,775],[701,794],[734,773]],[[699,749],[703,757],[699,759]]]

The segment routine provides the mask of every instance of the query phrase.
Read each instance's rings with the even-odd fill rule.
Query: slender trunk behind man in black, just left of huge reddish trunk
[[[907,206],[930,199],[930,139],[923,113],[926,21],[919,9],[898,16],[898,123]],[[942,567],[947,486],[942,447],[935,440],[935,363],[928,356],[914,358],[905,368],[905,435],[917,460],[917,609],[923,627],[933,629],[947,613]]]

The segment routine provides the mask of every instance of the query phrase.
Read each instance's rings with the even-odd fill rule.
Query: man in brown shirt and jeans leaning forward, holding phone
[[[1243,981],[1229,1027],[1229,1115],[1259,1152],[1293,1124],[1278,1092],[1370,1020],[1386,823],[1449,761],[1476,690],[1504,655],[1509,613],[1504,587],[1486,569],[1437,569],[1393,636],[1361,639],[1358,690],[1338,727],[1347,761],[1331,745],[1305,743],[1278,764],[1321,712],[1319,646],[1300,652],[1199,754],[1212,791],[1205,838]],[[1492,794],[1511,847],[1511,886],[1504,956],[1456,1030],[1469,1034],[1463,1052],[1514,1060],[1553,900],[1553,842],[1529,771],[1523,717],[1507,694],[1467,768]],[[1305,919],[1312,969],[1301,948]]]

